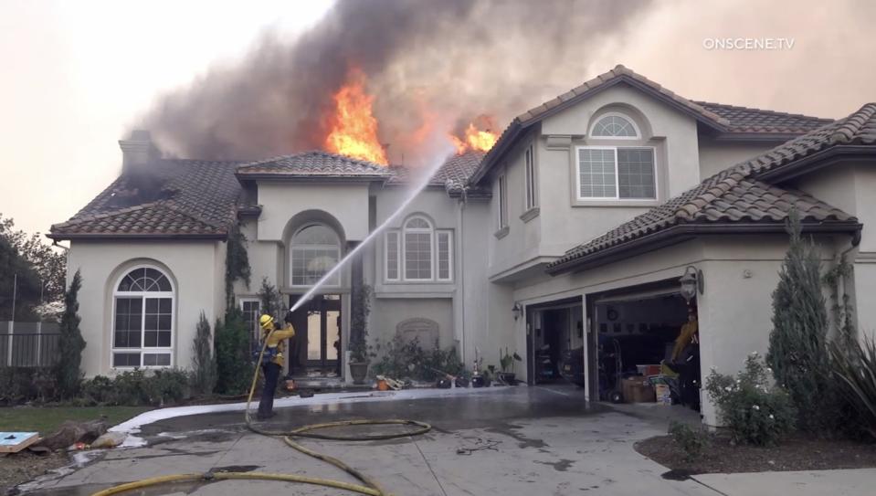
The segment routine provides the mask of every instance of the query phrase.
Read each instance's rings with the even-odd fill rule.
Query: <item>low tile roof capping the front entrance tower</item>
[[[356,177],[388,178],[392,175],[385,166],[356,160],[343,155],[311,151],[284,155],[243,164],[237,169],[239,177]]]

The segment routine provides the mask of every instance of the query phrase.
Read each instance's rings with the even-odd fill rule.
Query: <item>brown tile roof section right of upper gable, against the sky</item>
[[[832,122],[832,119],[822,119],[795,113],[764,111],[749,109],[723,103],[709,101],[694,101],[703,109],[723,117],[728,121],[727,132],[776,132],[799,134],[810,132]]]

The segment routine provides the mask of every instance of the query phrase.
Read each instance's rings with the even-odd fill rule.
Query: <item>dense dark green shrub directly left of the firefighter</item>
[[[248,324],[237,308],[231,308],[225,322],[216,322],[216,392],[239,395],[247,390],[252,375]]]

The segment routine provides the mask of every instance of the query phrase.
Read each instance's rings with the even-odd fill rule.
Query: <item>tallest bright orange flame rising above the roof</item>
[[[364,72],[351,69],[347,83],[332,97],[336,111],[325,147],[332,153],[386,165],[389,161],[377,140],[377,119],[372,112],[375,97],[366,93],[364,87]]]

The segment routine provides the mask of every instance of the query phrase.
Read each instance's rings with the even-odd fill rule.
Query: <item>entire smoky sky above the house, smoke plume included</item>
[[[28,231],[67,219],[119,174],[133,127],[179,156],[316,147],[352,65],[391,162],[480,114],[501,131],[618,63],[695,100],[841,117],[876,100],[874,16],[867,0],[7,1],[0,213]]]

